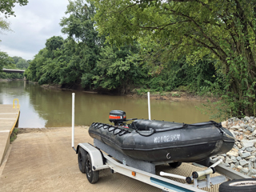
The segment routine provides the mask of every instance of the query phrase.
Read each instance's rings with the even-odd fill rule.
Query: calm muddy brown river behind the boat
[[[127,118],[148,118],[146,98],[46,89],[33,82],[0,82],[0,104],[12,104],[18,98],[21,111],[18,127],[21,128],[71,126],[73,92],[76,126],[109,123],[110,110],[124,110]],[[150,104],[151,119],[186,123],[210,120],[196,109],[195,106],[202,105],[200,102],[151,99]]]

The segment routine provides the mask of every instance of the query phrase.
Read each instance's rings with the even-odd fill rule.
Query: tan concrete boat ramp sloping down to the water
[[[75,128],[75,146],[93,142],[87,133],[86,127]],[[161,191],[110,170],[90,184],[78,169],[70,135],[70,127],[21,129],[0,167],[0,191]]]

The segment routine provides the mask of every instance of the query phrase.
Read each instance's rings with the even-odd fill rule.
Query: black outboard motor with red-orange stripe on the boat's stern
[[[114,126],[126,126],[126,122],[136,120],[137,118],[126,119],[126,112],[122,110],[110,111],[110,122],[114,122]]]

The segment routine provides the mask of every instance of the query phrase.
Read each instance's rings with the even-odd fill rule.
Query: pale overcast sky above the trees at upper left
[[[45,47],[46,39],[58,35],[66,38],[58,23],[66,16],[68,4],[68,0],[29,0],[26,6],[16,5],[16,17],[8,19],[13,32],[0,34],[0,50],[29,60]]]

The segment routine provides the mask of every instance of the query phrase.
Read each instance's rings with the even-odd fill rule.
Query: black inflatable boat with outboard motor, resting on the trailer
[[[110,112],[114,126],[94,122],[89,128],[97,138],[115,150],[146,162],[198,162],[216,154],[226,154],[234,137],[217,122],[183,124],[136,119],[126,125],[126,113]]]

